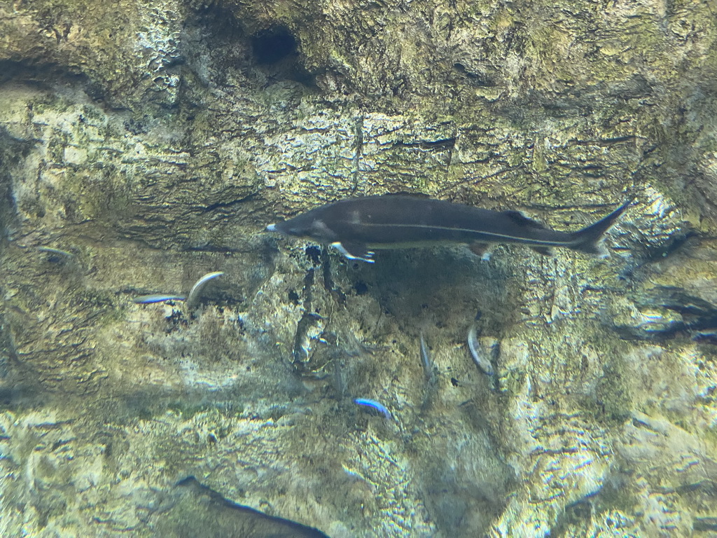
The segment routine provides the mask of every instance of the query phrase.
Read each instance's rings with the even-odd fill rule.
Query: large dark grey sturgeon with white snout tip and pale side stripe
[[[551,247],[600,253],[599,241],[630,202],[577,232],[559,232],[517,211],[492,211],[404,194],[349,198],[267,226],[336,247],[346,258],[373,262],[373,249],[462,243],[518,243],[548,254]]]

